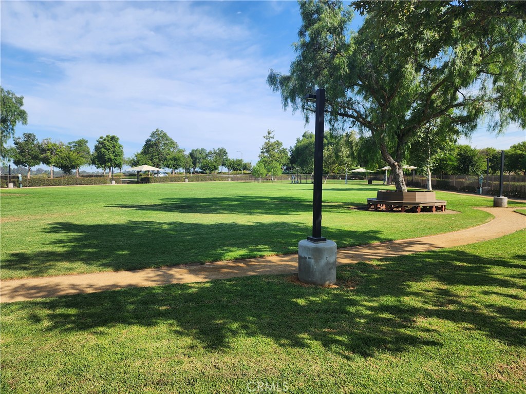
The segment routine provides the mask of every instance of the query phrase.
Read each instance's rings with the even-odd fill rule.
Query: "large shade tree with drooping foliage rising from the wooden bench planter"
[[[267,82],[306,120],[315,107],[305,95],[326,88],[328,122],[369,136],[406,191],[402,162],[433,120],[453,137],[483,116],[497,132],[526,123],[524,7],[492,2],[481,17],[471,3],[485,2],[301,2],[297,58]],[[357,33],[353,9],[366,15]]]

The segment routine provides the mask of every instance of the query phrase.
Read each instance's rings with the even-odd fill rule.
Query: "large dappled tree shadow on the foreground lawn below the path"
[[[219,351],[235,347],[239,337],[262,336],[281,347],[311,347],[316,341],[345,358],[373,357],[441,346],[452,339],[442,331],[446,325],[450,332],[450,324],[457,325],[456,332],[477,331],[523,346],[526,329],[513,322],[526,320],[526,310],[521,300],[505,298],[510,289],[526,291],[523,278],[517,279],[523,270],[515,257],[443,250],[339,267],[337,288],[302,286],[287,276],[246,277],[67,296],[22,307],[35,311],[33,322],[46,320],[49,331],[97,334],[118,325],[165,325],[174,340],[190,337]],[[498,304],[495,297],[501,297]]]

